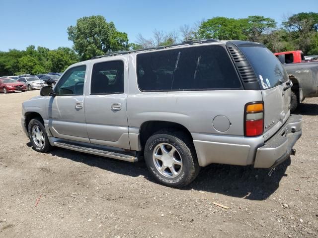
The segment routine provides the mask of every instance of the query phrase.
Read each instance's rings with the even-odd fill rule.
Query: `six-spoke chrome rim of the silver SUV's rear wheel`
[[[175,178],[182,171],[182,158],[177,149],[168,143],[158,144],[153,152],[153,160],[159,173],[168,178]]]

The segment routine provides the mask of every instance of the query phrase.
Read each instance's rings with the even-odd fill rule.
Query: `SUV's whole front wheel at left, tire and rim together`
[[[38,152],[48,152],[52,149],[45,127],[39,119],[31,119],[28,125],[29,138],[33,148]]]

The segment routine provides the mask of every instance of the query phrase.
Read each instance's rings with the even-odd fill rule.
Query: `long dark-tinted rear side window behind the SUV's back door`
[[[142,91],[238,89],[237,73],[221,46],[202,46],[139,54]]]

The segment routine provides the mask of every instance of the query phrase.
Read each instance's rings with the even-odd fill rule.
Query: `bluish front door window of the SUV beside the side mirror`
[[[70,68],[55,87],[56,95],[82,95],[86,65]]]

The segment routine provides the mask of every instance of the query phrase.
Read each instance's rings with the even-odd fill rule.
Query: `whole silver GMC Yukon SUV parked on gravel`
[[[261,44],[186,41],[73,64],[23,103],[21,122],[36,151],[144,157],[157,181],[181,187],[212,163],[273,168],[294,154],[291,87]]]

